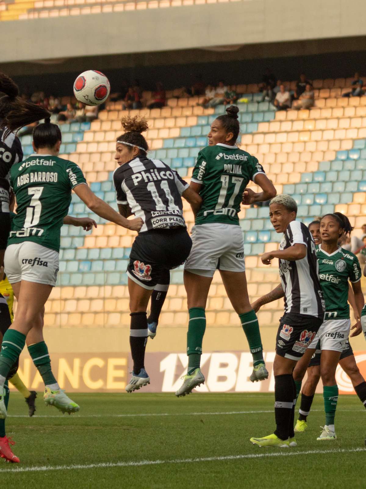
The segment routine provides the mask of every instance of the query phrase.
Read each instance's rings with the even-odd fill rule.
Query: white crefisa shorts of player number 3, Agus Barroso
[[[27,280],[55,287],[59,253],[32,241],[10,244],[5,251],[4,267],[11,284]]]

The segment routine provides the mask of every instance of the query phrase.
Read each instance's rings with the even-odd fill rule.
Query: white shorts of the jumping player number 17
[[[192,228],[192,249],[184,269],[213,277],[215,270],[244,272],[244,240],[240,226],[234,224],[199,224]]]

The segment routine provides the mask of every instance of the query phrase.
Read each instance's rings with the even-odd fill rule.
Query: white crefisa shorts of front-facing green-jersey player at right
[[[308,348],[316,348],[320,340],[321,350],[343,352],[350,329],[350,319],[326,319]]]

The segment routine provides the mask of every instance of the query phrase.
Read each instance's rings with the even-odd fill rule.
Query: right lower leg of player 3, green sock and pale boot
[[[51,359],[45,342],[40,341],[39,343],[29,345],[28,352],[44,382],[43,400],[46,406],[54,406],[61,413],[71,414],[78,412],[80,406],[66,396],[52,373]]]

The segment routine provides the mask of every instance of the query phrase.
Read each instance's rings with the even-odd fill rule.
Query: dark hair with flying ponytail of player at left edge
[[[42,107],[22,100],[17,85],[1,72],[0,92],[5,93],[0,98],[0,129],[6,128],[5,137],[23,126],[51,116],[50,112]]]

